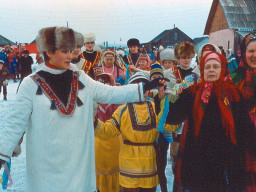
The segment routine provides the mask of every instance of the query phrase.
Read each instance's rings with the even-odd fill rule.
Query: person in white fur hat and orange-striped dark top
[[[81,54],[81,58],[85,60],[82,70],[94,79],[93,67],[98,65],[101,58],[100,51],[94,51],[95,34],[87,33],[84,35],[85,51]]]

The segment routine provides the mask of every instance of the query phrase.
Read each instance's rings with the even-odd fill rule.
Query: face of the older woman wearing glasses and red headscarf
[[[204,80],[214,82],[220,78],[221,63],[216,59],[208,60],[204,65]]]

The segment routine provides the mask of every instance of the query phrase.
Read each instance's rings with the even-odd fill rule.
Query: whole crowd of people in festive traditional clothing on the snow
[[[174,192],[256,190],[255,33],[236,57],[211,43],[149,53],[132,38],[125,54],[95,41],[66,27],[38,33],[42,64],[20,76],[0,140],[4,164],[26,134],[26,191],[168,192],[168,158]],[[0,61],[0,77],[12,62]]]

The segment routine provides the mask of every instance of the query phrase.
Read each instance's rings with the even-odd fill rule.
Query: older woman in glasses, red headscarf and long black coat
[[[202,81],[185,89],[175,103],[169,104],[166,123],[187,119],[174,191],[245,189],[245,153],[247,149],[255,153],[256,135],[239,89],[224,81],[226,67],[223,55],[206,54],[200,62]]]

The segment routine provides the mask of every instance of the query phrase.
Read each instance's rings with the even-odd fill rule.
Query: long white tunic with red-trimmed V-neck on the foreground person
[[[71,67],[75,70],[75,66]],[[66,71],[45,65],[41,70],[56,75]],[[92,80],[81,70],[77,78],[84,88],[71,88],[68,103],[72,103],[71,95],[76,94],[83,105],[77,106],[76,98],[74,110],[68,114],[50,109],[51,95],[43,86],[43,93],[37,95],[38,84],[31,75],[20,85],[15,107],[1,133],[0,158],[9,161],[26,131],[27,192],[95,191],[93,101],[120,104],[143,98],[141,84],[107,86]],[[72,81],[75,79],[73,77]],[[58,102],[55,102],[56,108],[59,107]]]

